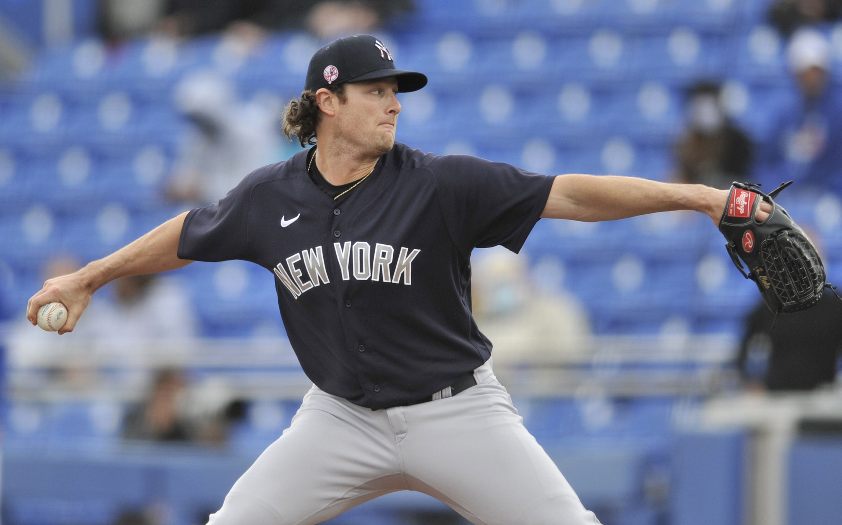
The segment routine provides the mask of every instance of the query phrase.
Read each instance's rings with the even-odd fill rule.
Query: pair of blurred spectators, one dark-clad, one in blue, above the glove
[[[674,179],[728,188],[733,181],[772,188],[794,180],[799,192],[842,192],[842,101],[829,88],[830,42],[801,28],[787,48],[796,93],[781,103],[766,136],[749,138],[727,116],[722,87],[701,82],[685,103],[686,130],[676,142]]]

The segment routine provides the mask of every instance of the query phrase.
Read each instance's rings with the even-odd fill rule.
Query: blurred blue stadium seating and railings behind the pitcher
[[[186,126],[172,94],[185,74],[210,68],[232,79],[241,98],[286,100],[301,92],[320,45],[283,32],[242,57],[226,54],[219,36],[177,45],[142,37],[115,60],[93,35],[91,1],[68,3],[69,40],[48,41],[45,9],[60,4],[0,1],[3,23],[35,50],[0,91],[7,327],[40,288],[50,257],[103,257],[181,210],[161,195]],[[429,76],[423,91],[401,96],[397,132],[424,151],[470,152],[536,172],[664,180],[694,82],[724,82],[729,115],[758,141],[775,105],[794,96],[785,43],[765,24],[763,1],[416,4],[377,34],[399,67]],[[842,59],[842,25],[821,29],[834,60]],[[67,151],[82,163],[75,176],[61,172]],[[834,280],[839,200],[786,204],[822,231]],[[766,525],[842,515],[838,442],[790,433],[784,444],[771,437],[757,445],[744,407],[728,408],[738,395],[733,355],[742,316],[758,297],[723,244],[706,217],[669,214],[598,225],[545,220],[527,241],[530,266],[550,268],[544,284],[563,286],[585,306],[600,351],[562,368],[518,369],[507,386],[526,426],[605,525],[763,522],[752,463],[763,446],[785,447],[783,468],[767,474],[789,487],[770,504],[777,514],[769,511]],[[272,276],[244,262],[195,263],[176,275],[200,341],[157,342],[142,365],[74,346],[68,336],[40,362],[7,360],[4,522],[106,524],[125,509],[152,509],[162,524],[197,522],[289,424],[307,382],[283,336]],[[50,367],[80,353],[98,367],[96,384],[74,392],[52,384]],[[224,447],[121,442],[125,404],[143,389],[125,382],[125,368],[174,365],[196,381],[222,378],[248,400],[248,416]],[[759,413],[767,406],[758,402]],[[456,522],[435,501],[402,493],[333,522],[449,520]]]

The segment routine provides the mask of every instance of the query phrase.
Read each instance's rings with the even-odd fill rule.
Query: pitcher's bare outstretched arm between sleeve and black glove
[[[658,183],[613,175],[559,175],[541,217],[596,222],[691,209],[708,215],[718,226],[727,198],[728,190],[701,184]],[[770,204],[761,203],[757,220],[765,220],[770,211]]]

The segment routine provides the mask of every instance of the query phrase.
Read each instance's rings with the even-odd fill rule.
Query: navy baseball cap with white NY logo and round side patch
[[[333,40],[316,51],[310,59],[304,89],[317,91],[322,87],[388,77],[397,77],[397,89],[401,93],[418,91],[427,85],[423,73],[396,69],[392,53],[380,40],[370,34],[354,34]]]

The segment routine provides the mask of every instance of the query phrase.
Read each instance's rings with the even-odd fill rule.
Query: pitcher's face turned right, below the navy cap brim
[[[346,101],[336,108],[336,125],[356,151],[371,156],[386,154],[395,145],[397,79],[345,84]]]

